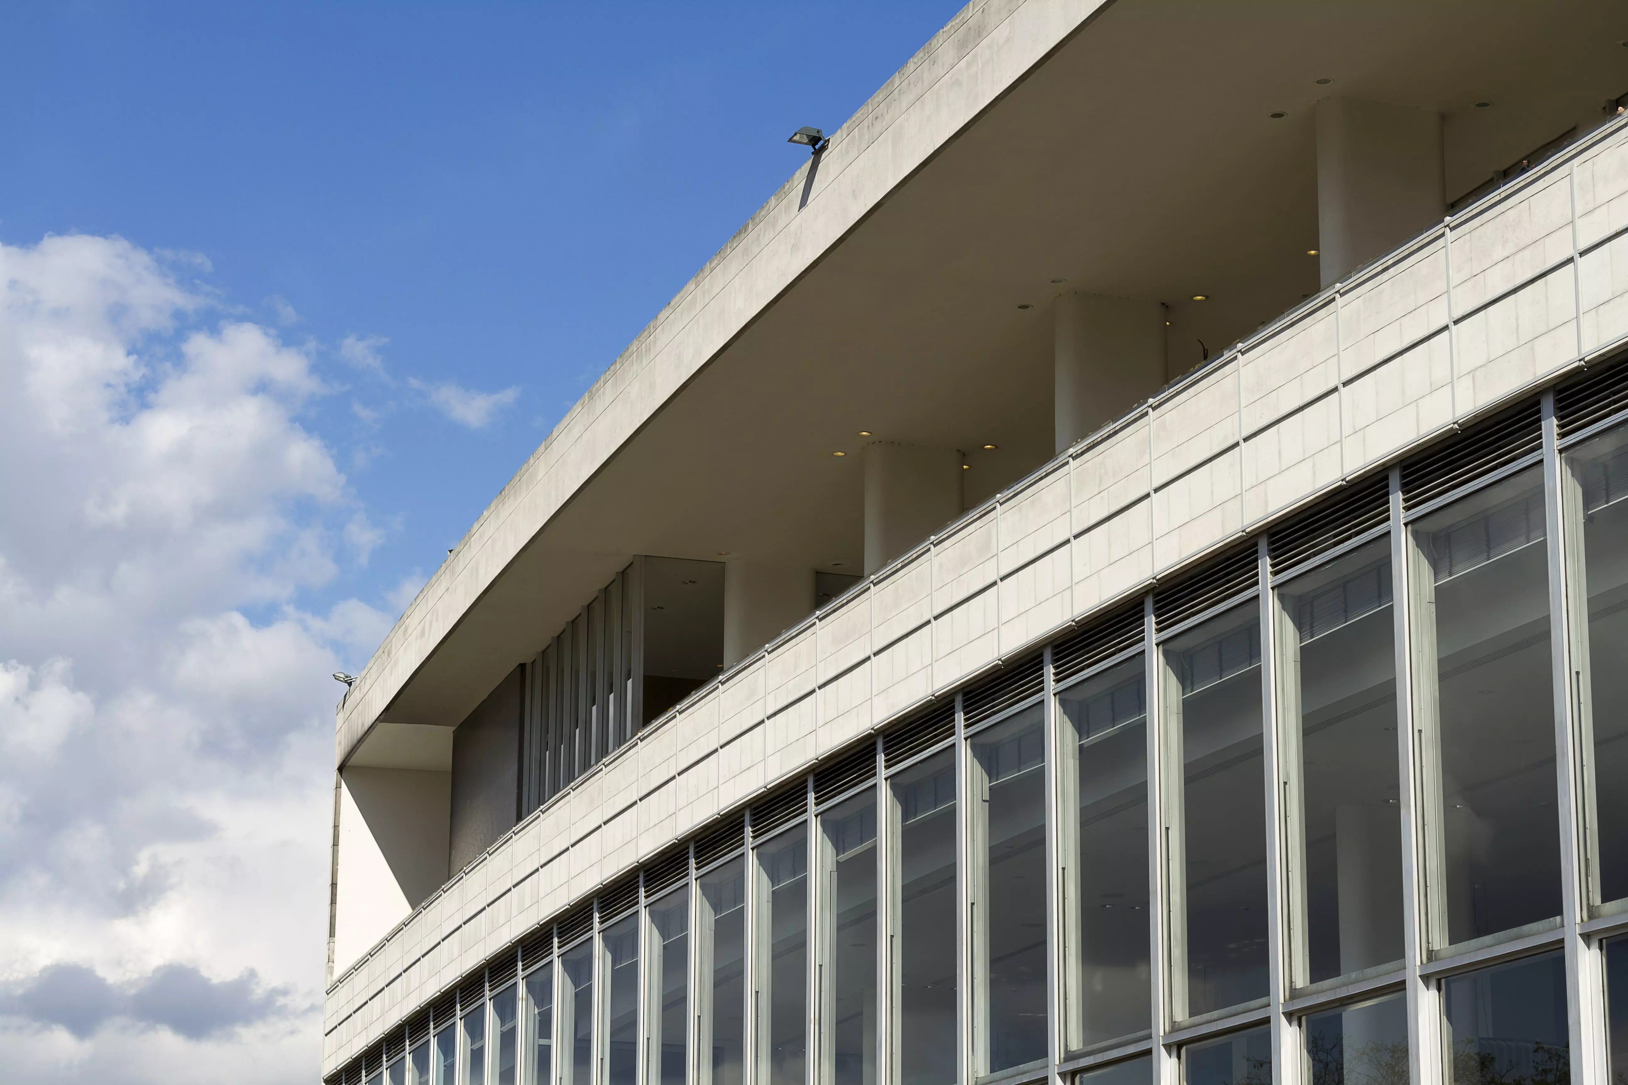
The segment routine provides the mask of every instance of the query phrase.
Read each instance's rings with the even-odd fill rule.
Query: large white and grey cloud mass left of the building
[[[313,348],[205,322],[220,309],[173,262],[117,237],[0,244],[0,464],[26,465],[0,470],[0,1048],[20,1080],[317,1074],[327,675],[391,617],[301,599],[383,532],[308,428],[329,392]]]

